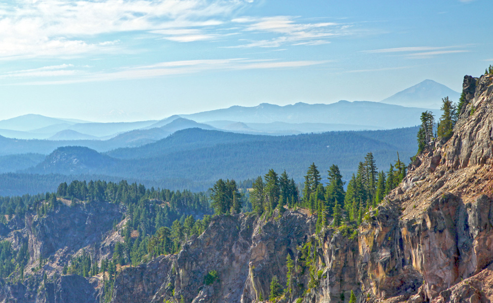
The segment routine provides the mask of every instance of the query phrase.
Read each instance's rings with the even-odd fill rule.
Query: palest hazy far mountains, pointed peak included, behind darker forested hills
[[[338,101],[330,104],[289,105],[261,103],[257,106],[231,106],[194,114],[173,115],[162,120],[98,123],[28,114],[0,121],[0,135],[16,139],[109,140],[110,147],[138,146],[159,140],[174,131],[199,127],[258,135],[295,135],[329,131],[358,131],[411,127],[421,124],[427,109],[440,112],[441,98],[458,100],[458,93],[432,80],[412,86],[381,101]],[[171,125],[178,118],[176,125]],[[198,124],[199,123],[199,124]],[[165,129],[162,127],[167,126]],[[118,145],[116,141],[127,142]],[[74,142],[79,144],[79,142]],[[90,145],[90,143],[88,143]],[[82,144],[88,146],[86,144]],[[97,150],[98,144],[92,148]]]

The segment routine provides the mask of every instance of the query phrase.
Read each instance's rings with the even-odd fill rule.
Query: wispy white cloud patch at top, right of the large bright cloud
[[[229,48],[281,47],[282,45],[320,45],[330,43],[328,38],[347,35],[350,25],[317,22],[303,23],[292,16],[274,16],[263,18],[242,17],[232,21],[243,27],[244,32],[252,34],[272,34],[270,39],[250,39],[247,43],[229,46]],[[241,40],[240,40],[241,41]]]

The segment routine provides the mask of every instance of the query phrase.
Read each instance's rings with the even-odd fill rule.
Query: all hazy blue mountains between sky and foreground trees
[[[446,92],[426,80],[394,97],[433,90]],[[262,103],[130,123],[20,116],[0,121],[0,194],[91,178],[207,190],[218,178],[246,180],[270,168],[301,182],[313,162],[321,171],[337,164],[349,179],[368,152],[384,170],[397,152],[404,161],[415,154],[416,125],[427,110],[416,103],[423,107]]]

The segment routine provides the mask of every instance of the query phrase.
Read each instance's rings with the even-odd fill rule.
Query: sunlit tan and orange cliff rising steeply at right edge
[[[464,96],[452,138],[421,155],[401,186],[379,206],[375,220],[361,228],[360,262],[368,277],[363,284],[375,298],[492,299],[481,279],[476,279],[474,291],[470,285],[457,286],[478,274],[491,275],[491,77],[466,76]],[[387,212],[390,215],[384,215]]]

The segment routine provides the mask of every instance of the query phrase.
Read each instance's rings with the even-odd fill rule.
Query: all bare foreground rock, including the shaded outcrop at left
[[[2,283],[1,302],[490,303],[493,299],[493,77],[464,78],[454,135],[418,155],[359,227],[324,228],[303,209],[216,216],[175,255],[106,276],[61,275],[70,254],[101,262],[121,241],[116,205],[61,205],[51,216],[11,218],[0,231],[29,242],[27,278]],[[44,260],[43,262],[38,261]],[[292,260],[292,265],[289,264]],[[37,263],[39,262],[40,265]],[[42,269],[42,270],[40,270]],[[41,272],[47,272],[43,277]]]

